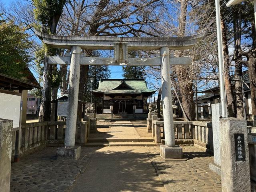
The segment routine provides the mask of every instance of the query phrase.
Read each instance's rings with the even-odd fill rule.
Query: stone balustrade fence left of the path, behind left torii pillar
[[[86,144],[89,137],[89,121],[76,124],[76,143]],[[64,144],[66,122],[35,122],[22,124],[20,140],[19,129],[12,132],[12,157],[31,152],[46,144]],[[15,159],[15,158],[14,158]]]

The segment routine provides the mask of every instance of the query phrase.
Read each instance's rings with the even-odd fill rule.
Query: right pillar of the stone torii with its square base
[[[162,98],[163,98],[163,114],[164,114],[164,137],[165,145],[160,146],[160,155],[162,158],[182,158],[182,148],[175,146],[175,133],[172,116],[172,93],[171,93],[171,77],[170,77],[170,59],[169,48],[160,48],[162,56],[161,65],[161,81],[162,81]]]

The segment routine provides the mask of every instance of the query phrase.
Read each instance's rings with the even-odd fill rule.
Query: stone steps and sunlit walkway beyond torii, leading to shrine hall
[[[97,122],[98,133],[90,134],[85,146],[156,146],[146,121]]]

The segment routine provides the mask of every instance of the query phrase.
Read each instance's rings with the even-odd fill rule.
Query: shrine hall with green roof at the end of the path
[[[144,112],[148,97],[156,90],[148,89],[144,79],[102,79],[98,89],[92,92],[103,98],[103,114],[111,113],[110,106],[113,106],[114,114],[133,114],[134,108],[139,114]]]

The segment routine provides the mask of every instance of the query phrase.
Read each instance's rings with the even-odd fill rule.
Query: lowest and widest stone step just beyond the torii
[[[83,146],[86,147],[106,147],[106,146],[158,146],[154,142],[98,142],[98,143],[86,143]]]

